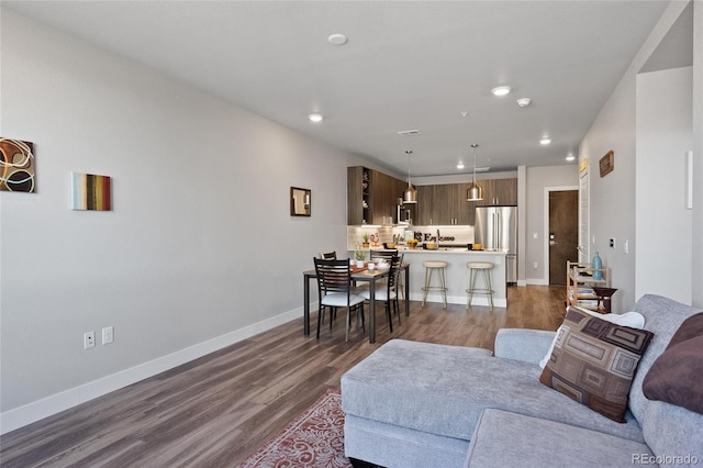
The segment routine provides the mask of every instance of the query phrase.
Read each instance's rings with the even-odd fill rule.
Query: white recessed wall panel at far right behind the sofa
[[[692,80],[691,67],[637,75],[636,297],[691,303],[684,154],[692,149]]]

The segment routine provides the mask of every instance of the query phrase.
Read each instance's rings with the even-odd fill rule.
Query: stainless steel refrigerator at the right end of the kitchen
[[[503,250],[507,282],[517,282],[517,207],[476,207],[473,242],[484,250]]]

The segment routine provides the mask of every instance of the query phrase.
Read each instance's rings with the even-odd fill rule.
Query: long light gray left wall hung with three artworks
[[[37,179],[0,196],[3,432],[301,315],[301,271],[346,249],[355,157],[1,21],[0,133],[34,143]],[[71,211],[70,171],[112,177],[113,211]],[[291,186],[312,218],[289,215]]]

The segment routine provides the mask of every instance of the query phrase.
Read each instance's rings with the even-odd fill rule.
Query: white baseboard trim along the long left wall
[[[312,304],[311,310],[315,310]],[[252,325],[247,325],[243,328],[234,330],[212,339],[198,343],[166,356],[140,364],[129,369],[101,377],[100,379],[83,383],[72,389],[55,393],[42,400],[33,401],[25,405],[5,411],[0,413],[0,434],[18,430],[27,424],[43,420],[44,417],[52,416],[98,397],[102,397],[112,391],[131,386],[140,380],[154,377],[160,372],[172,369],[174,367],[198,359],[261,332],[266,332],[275,326],[299,319],[302,315],[303,311],[301,307]]]

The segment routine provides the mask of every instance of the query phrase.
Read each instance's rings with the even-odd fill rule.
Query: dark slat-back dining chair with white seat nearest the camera
[[[324,260],[322,258],[313,258],[315,263],[315,275],[317,277],[317,294],[320,299],[320,312],[317,313],[317,338],[320,338],[320,327],[322,325],[322,314],[324,307],[330,310],[330,330],[332,330],[332,310],[333,308],[346,308],[346,333],[345,342],[349,341],[349,327],[352,326],[352,313],[357,312],[357,320],[360,315],[361,326],[364,325],[364,298],[355,292],[352,287],[352,264],[350,260]]]

